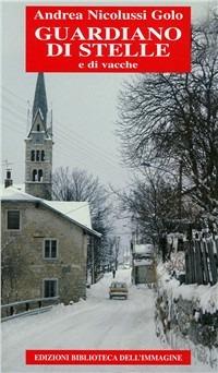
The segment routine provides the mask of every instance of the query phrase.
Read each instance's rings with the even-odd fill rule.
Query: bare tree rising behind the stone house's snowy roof
[[[53,200],[89,203],[93,228],[102,234],[100,241],[95,240],[95,269],[101,270],[108,257],[108,233],[112,230],[112,207],[108,191],[97,177],[77,168],[70,170],[68,167],[60,167],[52,180]]]

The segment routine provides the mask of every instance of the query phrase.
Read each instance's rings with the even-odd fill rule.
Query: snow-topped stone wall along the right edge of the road
[[[159,264],[156,323],[158,335],[172,348],[187,348],[203,364],[218,368],[218,284],[180,285]]]

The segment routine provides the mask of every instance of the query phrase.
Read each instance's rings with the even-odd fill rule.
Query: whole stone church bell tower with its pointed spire
[[[25,192],[51,200],[52,188],[52,118],[48,106],[44,73],[38,73],[31,130],[25,140]]]

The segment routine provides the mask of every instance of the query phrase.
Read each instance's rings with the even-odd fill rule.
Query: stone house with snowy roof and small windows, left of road
[[[46,201],[9,186],[1,221],[2,303],[85,299],[87,237],[100,237],[86,202]]]

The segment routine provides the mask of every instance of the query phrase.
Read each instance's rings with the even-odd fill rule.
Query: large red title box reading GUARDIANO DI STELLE
[[[190,7],[26,7],[27,72],[189,72]]]

